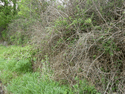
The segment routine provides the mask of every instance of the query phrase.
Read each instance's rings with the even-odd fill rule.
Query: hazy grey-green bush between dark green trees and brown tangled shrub
[[[18,8],[15,19],[8,26],[8,42],[16,45],[27,44],[37,28],[35,25],[41,21],[41,6],[38,1],[21,0],[18,2]]]

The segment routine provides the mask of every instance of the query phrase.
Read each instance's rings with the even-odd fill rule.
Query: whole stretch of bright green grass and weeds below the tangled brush
[[[0,80],[7,94],[98,94],[94,87],[86,82],[74,85],[60,85],[52,80],[45,70],[33,72],[30,46],[19,47],[0,45]]]

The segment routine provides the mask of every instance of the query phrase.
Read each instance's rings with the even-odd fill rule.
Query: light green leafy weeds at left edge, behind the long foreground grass
[[[30,54],[29,48],[0,46],[0,80],[2,80],[3,84],[10,82],[23,73],[32,72],[30,59],[26,59],[28,54],[23,55],[21,53]]]

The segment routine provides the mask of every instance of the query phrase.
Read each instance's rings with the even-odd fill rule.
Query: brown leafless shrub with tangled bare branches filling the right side
[[[55,70],[55,79],[57,80],[67,80],[71,85],[75,83],[75,77],[83,79],[86,78],[92,82],[96,88],[101,91],[101,93],[106,94],[109,92],[117,92],[123,94],[124,87],[124,5],[121,2],[118,2],[117,8],[111,9],[114,5],[108,7],[106,11],[106,6],[102,7],[100,10],[99,7],[106,5],[105,2],[91,2],[92,7],[86,4],[86,1],[78,1],[76,4],[79,4],[79,10],[77,10],[77,5],[73,2],[68,3],[64,17],[61,20],[65,20],[68,24],[71,24],[67,29],[65,25],[57,27],[56,33],[57,37],[52,38],[52,41],[62,39],[64,49],[59,47],[56,50],[59,50],[57,54],[51,57],[51,67]],[[109,1],[109,4],[113,1]],[[100,6],[99,6],[100,5]],[[75,14],[79,13],[84,8],[84,15]],[[74,10],[73,10],[74,9]],[[111,10],[110,10],[111,9]],[[69,12],[70,11],[70,12]],[[92,11],[95,14],[92,17]],[[118,12],[122,11],[122,12]],[[108,12],[113,12],[113,15],[106,15]],[[117,12],[117,14],[116,14]],[[81,13],[81,12],[80,12]],[[119,14],[119,16],[118,16]],[[121,16],[120,16],[121,15]],[[93,23],[87,23],[88,27],[84,30],[81,29],[83,23],[77,22],[72,24],[70,17],[92,17]],[[99,19],[98,19],[99,18]],[[61,21],[60,20],[60,21]],[[94,22],[95,20],[95,22]],[[77,20],[78,21],[78,20]],[[90,28],[90,29],[88,29]],[[87,30],[88,29],[88,30]],[[66,34],[68,30],[72,32]],[[54,36],[53,36],[54,37]],[[64,38],[65,37],[65,38]],[[69,40],[67,40],[69,39]],[[73,44],[70,42],[74,40]],[[52,46],[54,46],[53,44]],[[66,81],[65,81],[66,82]],[[122,89],[119,88],[122,87]]]

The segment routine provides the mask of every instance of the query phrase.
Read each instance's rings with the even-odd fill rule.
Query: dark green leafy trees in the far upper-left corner
[[[4,5],[0,5],[0,28],[2,28],[0,31],[0,34],[2,35],[0,39],[7,40],[7,27],[8,24],[11,23],[11,21],[14,19],[14,16],[16,15],[17,9],[16,9],[16,0],[12,0],[13,6],[9,5],[10,1],[8,0],[1,0]]]

